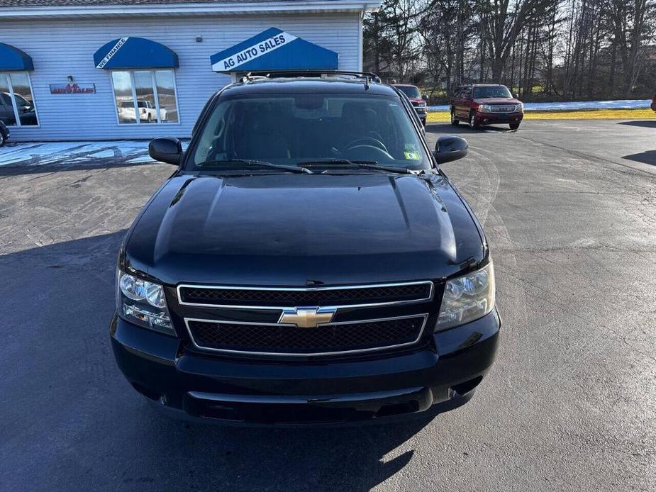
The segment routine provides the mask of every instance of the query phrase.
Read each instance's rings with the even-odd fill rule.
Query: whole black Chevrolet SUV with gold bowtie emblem
[[[206,104],[118,257],[111,344],[171,413],[299,424],[460,406],[499,339],[483,230],[371,74],[249,77]]]

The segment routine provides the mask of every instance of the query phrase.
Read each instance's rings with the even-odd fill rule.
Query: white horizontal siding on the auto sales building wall
[[[211,71],[210,55],[269,27],[338,52],[340,69],[360,69],[360,14],[0,21],[0,42],[18,47],[34,62],[30,77],[40,126],[14,127],[12,140],[189,137],[209,96],[229,82]],[[148,38],[177,53],[180,123],[118,125],[110,72],[94,67],[94,52],[123,36]],[[196,43],[196,36],[203,42]],[[49,84],[65,84],[67,75],[96,84],[96,94],[50,94]]]

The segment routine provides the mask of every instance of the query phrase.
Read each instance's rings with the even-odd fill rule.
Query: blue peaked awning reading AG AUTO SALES
[[[212,55],[210,61],[214,72],[330,70],[338,68],[339,55],[278,28],[269,28]]]

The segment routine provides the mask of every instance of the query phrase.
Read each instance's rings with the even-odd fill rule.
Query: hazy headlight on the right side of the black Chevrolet
[[[494,308],[494,266],[447,281],[435,331],[464,325]]]

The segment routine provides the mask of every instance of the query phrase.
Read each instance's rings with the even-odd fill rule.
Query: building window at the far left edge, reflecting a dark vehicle
[[[28,72],[0,73],[0,120],[7,126],[39,124]]]

